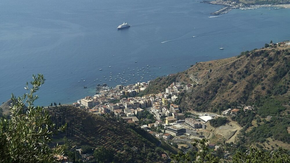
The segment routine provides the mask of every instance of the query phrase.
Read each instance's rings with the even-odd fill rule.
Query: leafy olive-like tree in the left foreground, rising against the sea
[[[64,152],[64,147],[50,149],[47,145],[52,133],[64,131],[66,126],[56,128],[50,114],[33,105],[38,98],[34,94],[45,79],[41,74],[32,78],[32,88],[28,82],[24,87],[26,94],[18,98],[12,94],[10,118],[0,119],[0,162],[56,162],[54,156]]]

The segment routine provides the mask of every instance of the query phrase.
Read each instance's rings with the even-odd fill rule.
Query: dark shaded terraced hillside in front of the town
[[[103,146],[113,151],[114,162],[165,162],[161,157],[164,150],[157,147],[159,141],[140,127],[124,124],[122,118],[97,116],[72,106],[50,108],[48,111],[57,125],[68,125],[66,132],[55,135],[55,143],[50,146],[58,141],[63,144],[66,137],[72,148]],[[137,151],[131,149],[133,146],[137,147]]]

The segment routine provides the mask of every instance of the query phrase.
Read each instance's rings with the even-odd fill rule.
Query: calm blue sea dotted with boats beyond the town
[[[118,73],[136,83],[144,74],[137,76],[137,67],[148,81],[290,39],[289,9],[208,18],[221,7],[195,0],[1,0],[0,102],[25,93],[32,74],[46,78],[36,104],[72,103],[95,94],[97,84],[120,84],[109,81]],[[117,30],[123,21],[131,27]]]

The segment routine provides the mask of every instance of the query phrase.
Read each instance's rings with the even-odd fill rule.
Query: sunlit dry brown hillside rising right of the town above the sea
[[[273,49],[242,52],[236,57],[196,63],[184,72],[153,80],[146,93],[164,91],[168,83],[174,80],[196,85],[193,93],[182,97],[182,109],[215,112],[237,104],[260,105],[265,97],[287,93],[289,57],[289,45],[281,45]]]

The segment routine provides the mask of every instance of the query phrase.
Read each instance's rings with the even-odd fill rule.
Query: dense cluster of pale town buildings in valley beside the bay
[[[84,97],[73,105],[99,116],[111,114],[122,118],[124,123],[137,125],[160,140],[182,146],[180,149],[184,153],[193,148],[191,143],[195,139],[209,138],[204,134],[209,132],[207,130],[209,120],[235,116],[239,111],[254,110],[253,106],[244,106],[226,109],[221,115],[182,112],[175,101],[182,92],[192,93],[194,88],[192,84],[172,83],[164,92],[138,97],[139,92],[145,90],[149,83],[150,81],[128,86],[117,85],[113,88],[106,85],[98,86],[98,94]],[[235,133],[228,137],[228,140],[234,135]],[[220,145],[214,143],[209,143],[208,146],[214,151],[220,148]],[[225,158],[229,155],[229,151],[224,151]],[[164,154],[164,157],[167,155]]]

